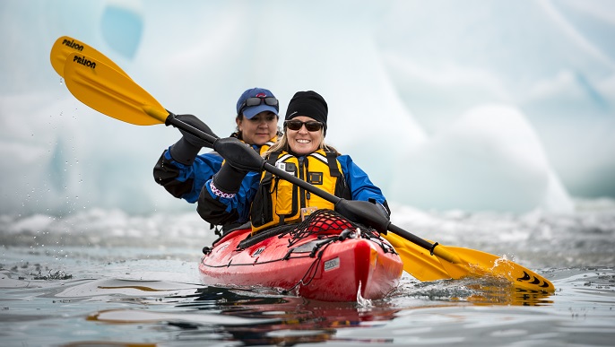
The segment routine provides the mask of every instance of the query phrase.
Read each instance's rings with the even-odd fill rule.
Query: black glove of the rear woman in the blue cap
[[[177,115],[175,117],[189,126],[194,126],[204,133],[211,134],[213,137],[218,137],[216,134],[213,134],[212,129],[210,129],[209,126],[193,115]],[[177,143],[173,144],[170,149],[171,157],[173,157],[174,160],[185,165],[192,165],[193,161],[195,161],[196,154],[201,151],[202,147],[212,148],[212,143],[208,143],[194,134],[185,132],[184,130],[179,129],[179,131],[181,132],[182,137]]]

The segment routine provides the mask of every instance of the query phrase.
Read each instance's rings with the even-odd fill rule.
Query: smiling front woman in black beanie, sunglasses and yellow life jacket
[[[380,188],[350,156],[325,143],[327,114],[325,99],[315,91],[295,93],[286,111],[284,134],[264,152],[264,159],[332,195],[376,203],[388,217]],[[316,209],[333,208],[331,202],[270,172],[247,172],[225,163],[205,183],[196,211],[213,224],[251,221],[255,233],[299,222]]]

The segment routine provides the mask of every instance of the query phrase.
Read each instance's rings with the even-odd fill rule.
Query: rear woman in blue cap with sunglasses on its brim
[[[263,88],[244,91],[237,101],[237,130],[231,136],[252,145],[256,152],[265,152],[281,134],[278,127],[279,109],[279,102],[271,91]],[[190,126],[213,134],[209,126],[193,115],[177,117]],[[223,159],[216,152],[198,155],[207,143],[195,135],[180,132],[182,137],[179,141],[160,156],[153,176],[156,183],[165,187],[171,195],[195,203],[204,183],[221,169]]]

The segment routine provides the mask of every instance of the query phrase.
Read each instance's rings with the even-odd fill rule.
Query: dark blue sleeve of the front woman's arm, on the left
[[[239,191],[233,197],[222,197],[213,194],[212,192],[212,179],[209,179],[205,183],[205,187],[209,195],[219,203],[224,204],[226,209],[224,213],[233,214],[238,213],[238,222],[246,222],[250,220],[250,207],[256,196],[256,191],[261,183],[261,173],[250,171],[246,177],[241,181],[241,187]],[[215,208],[215,206],[209,206]]]

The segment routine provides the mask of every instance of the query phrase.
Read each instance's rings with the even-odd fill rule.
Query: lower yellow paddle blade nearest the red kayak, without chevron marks
[[[446,280],[452,278],[440,264],[437,256],[431,256],[423,247],[403,239],[401,236],[388,232],[383,235],[399,253],[403,261],[403,270],[422,282]],[[428,240],[429,241],[429,240]]]

